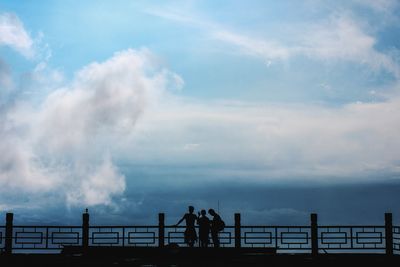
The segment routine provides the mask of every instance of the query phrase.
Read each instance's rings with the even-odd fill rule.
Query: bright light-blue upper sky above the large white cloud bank
[[[52,53],[49,65],[69,78],[82,66],[103,61],[115,51],[147,47],[184,77],[185,96],[342,104],[373,100],[369,91],[395,82],[391,77],[393,71],[378,66],[371,73],[372,63],[362,61],[372,52],[395,53],[399,45],[393,38],[399,31],[394,15],[397,7],[392,4],[393,9],[385,1],[380,5],[368,3],[44,1],[38,5],[5,1],[2,9],[17,14],[32,38],[43,33],[42,45],[48,45]],[[340,23],[343,29],[337,25]],[[354,32],[344,36],[346,28],[354,28]],[[332,30],[337,33],[329,36]],[[261,47],[274,42],[275,50],[287,50],[283,53],[293,55],[283,59],[268,49],[252,52],[251,47],[237,45],[227,36],[215,36],[218,32],[229,32],[237,39],[248,38],[248,45],[258,42]],[[371,38],[374,43],[370,51],[363,47],[365,54],[351,58],[340,53],[342,48],[351,53],[346,40],[328,43],[340,34],[360,42],[364,41],[362,38]],[[312,48],[318,44],[305,40],[307,35],[320,38],[323,47]],[[333,47],[324,55],[309,55],[318,49],[328,50],[329,45]],[[311,46],[311,51],[289,52],[297,46]],[[253,50],[257,50],[257,45]],[[19,68],[27,67],[15,55],[7,57],[12,57]],[[321,84],[330,86],[331,91],[323,91]]]

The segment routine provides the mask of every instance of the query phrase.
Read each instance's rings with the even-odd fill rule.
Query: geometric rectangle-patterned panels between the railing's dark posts
[[[234,246],[234,226],[220,232],[221,247]],[[311,250],[310,226],[241,226],[241,247],[276,248],[278,252]],[[156,247],[158,226],[90,226],[89,246]],[[185,246],[183,226],[165,226],[165,245]],[[0,227],[0,247],[4,247],[5,229]],[[13,250],[60,250],[82,245],[81,226],[14,226]],[[210,240],[211,241],[211,240]],[[319,226],[321,251],[357,250],[384,252],[384,226]],[[393,249],[400,251],[400,227],[393,227]],[[368,250],[368,251],[367,251]]]

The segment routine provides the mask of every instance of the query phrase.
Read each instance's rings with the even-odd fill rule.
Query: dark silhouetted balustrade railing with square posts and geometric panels
[[[90,226],[89,214],[82,226],[21,226],[8,216],[6,226],[0,226],[3,253],[58,252],[65,246],[186,246],[185,227],[164,225],[163,215],[152,226]],[[400,254],[400,226],[392,226],[391,216],[385,218],[385,225],[318,226],[315,221],[309,226],[248,226],[236,214],[235,225],[226,226],[219,239],[221,247],[273,248],[277,253]]]

